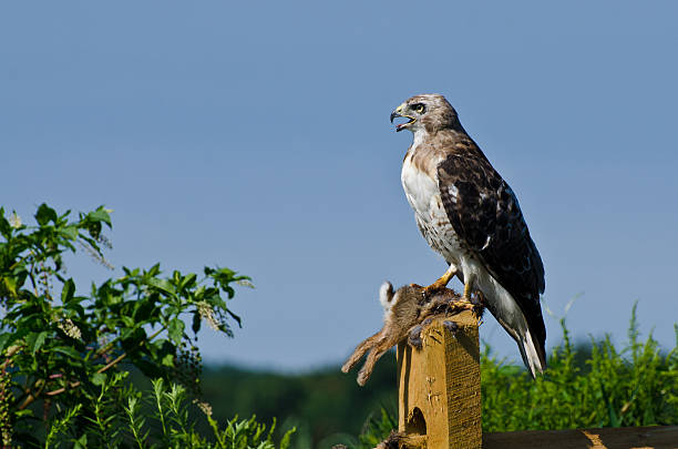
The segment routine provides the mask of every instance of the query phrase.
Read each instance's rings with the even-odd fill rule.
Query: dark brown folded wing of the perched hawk
[[[513,191],[480,154],[450,154],[438,166],[438,185],[454,231],[518,303],[543,345],[544,265]]]

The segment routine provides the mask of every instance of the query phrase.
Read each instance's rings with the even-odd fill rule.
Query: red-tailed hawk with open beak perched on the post
[[[540,306],[544,265],[515,194],[438,94],[412,96],[391,113],[407,118],[396,130],[414,140],[402,164],[402,186],[417,225],[450,267],[432,292],[455,275],[464,297],[480,290],[516,340],[530,373],[546,367],[546,328]]]

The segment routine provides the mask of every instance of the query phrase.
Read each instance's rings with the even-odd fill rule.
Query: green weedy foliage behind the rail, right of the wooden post
[[[640,341],[635,307],[626,346],[617,350],[609,336],[592,339],[584,366],[562,326],[564,343],[534,381],[483,355],[484,431],[678,424],[678,346],[662,354],[651,335]]]

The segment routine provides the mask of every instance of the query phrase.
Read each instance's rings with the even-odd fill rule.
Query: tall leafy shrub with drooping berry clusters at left
[[[71,443],[114,447],[121,420],[134,410],[121,367],[199,391],[202,363],[193,338],[202,322],[232,336],[240,318],[227,305],[235,284],[249,278],[228,268],[205,267],[204,276],[123,267],[124,275],[76,293],[63,255],[80,247],[102,265],[111,228],[103,206],[70,217],[42,204],[27,226],[0,208],[0,431],[3,445],[53,446],[56,435],[84,429]],[[184,316],[193,317],[189,336]],[[156,384],[162,386],[162,384]],[[160,388],[160,387],[158,387]],[[178,387],[160,410],[163,428],[175,429],[185,410]],[[181,390],[183,391],[183,390]],[[165,396],[156,406],[165,407]],[[164,421],[164,414],[172,422]],[[51,419],[47,432],[41,420]],[[183,419],[183,418],[182,418]],[[143,420],[131,424],[143,436]],[[235,426],[235,425],[234,425]],[[255,426],[253,422],[251,426]],[[256,425],[258,426],[258,425]],[[246,427],[249,429],[249,427]],[[179,430],[184,433],[186,429]],[[170,441],[170,440],[167,440]],[[174,440],[172,440],[174,441]],[[113,446],[112,446],[113,445]],[[235,446],[234,446],[235,447]],[[242,447],[242,446],[237,446]]]

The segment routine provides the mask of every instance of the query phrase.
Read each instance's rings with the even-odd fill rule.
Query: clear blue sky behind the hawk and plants
[[[445,269],[400,185],[391,110],[438,92],[521,201],[545,299],[674,345],[671,2],[35,1],[0,6],[1,204],[113,208],[120,266],[250,275],[215,363],[304,370],[381,326],[377,292]],[[110,276],[86,258],[70,274]],[[547,345],[561,338],[546,318]],[[492,318],[481,336],[517,348]]]

